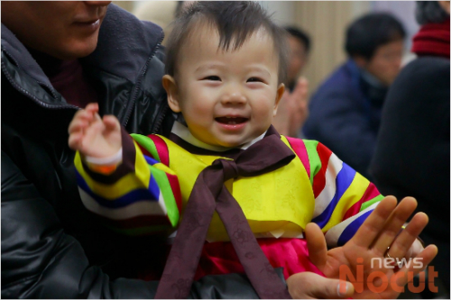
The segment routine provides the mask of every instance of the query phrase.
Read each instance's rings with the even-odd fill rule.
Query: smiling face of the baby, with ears
[[[179,51],[175,77],[163,77],[168,102],[191,132],[210,145],[237,147],[262,135],[284,91],[279,60],[261,31],[238,50],[218,49],[216,29],[196,27]]]

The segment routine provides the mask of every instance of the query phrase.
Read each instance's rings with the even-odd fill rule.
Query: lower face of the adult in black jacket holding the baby
[[[57,59],[96,49],[111,1],[2,1],[2,23],[27,47]]]

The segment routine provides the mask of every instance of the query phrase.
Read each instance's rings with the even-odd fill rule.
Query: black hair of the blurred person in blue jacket
[[[345,50],[350,57],[371,59],[382,45],[405,37],[402,24],[391,14],[366,14],[347,28]]]

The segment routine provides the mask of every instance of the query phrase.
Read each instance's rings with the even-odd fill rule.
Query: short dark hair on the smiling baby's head
[[[198,1],[185,7],[173,22],[166,48],[166,74],[174,76],[179,50],[199,22],[214,25],[218,49],[238,50],[252,34],[263,28],[279,54],[279,83],[287,76],[289,47],[285,30],[255,1]]]

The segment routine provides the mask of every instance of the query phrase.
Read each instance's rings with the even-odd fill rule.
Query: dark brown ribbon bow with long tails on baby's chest
[[[272,134],[241,152],[235,160],[216,159],[200,172],[155,298],[181,299],[189,295],[215,210],[257,294],[261,298],[291,298],[256,241],[243,210],[224,183],[238,176],[253,177],[271,172],[294,158],[294,153],[281,141],[279,134]]]

